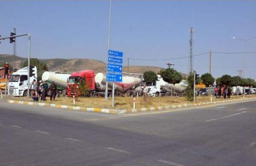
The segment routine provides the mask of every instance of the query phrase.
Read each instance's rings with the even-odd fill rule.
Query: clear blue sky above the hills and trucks
[[[106,62],[109,0],[0,0],[0,35],[31,34],[32,58],[92,58]],[[189,55],[189,28],[194,27],[194,54],[243,52],[237,38],[256,37],[256,1],[113,0],[110,48],[126,58],[166,59]],[[256,39],[246,52],[256,51]],[[2,41],[0,54],[12,54]],[[17,39],[17,55],[27,57],[27,38]],[[188,72],[188,58],[130,60],[130,65],[167,67]],[[127,63],[127,61],[125,62]],[[256,53],[246,54],[246,77],[256,79]],[[199,74],[209,72],[209,56],[194,57]],[[212,54],[212,74],[238,75],[243,54]]]

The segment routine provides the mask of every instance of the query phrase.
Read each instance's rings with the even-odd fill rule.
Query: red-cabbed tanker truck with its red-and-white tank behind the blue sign
[[[123,73],[123,82],[115,82],[115,95],[117,96],[141,96],[142,74]],[[88,96],[104,96],[106,88],[106,75],[94,74],[94,70],[82,70],[74,72],[68,78],[68,96],[78,96],[76,88],[82,82],[88,83]],[[112,82],[108,82],[108,96],[112,95]]]

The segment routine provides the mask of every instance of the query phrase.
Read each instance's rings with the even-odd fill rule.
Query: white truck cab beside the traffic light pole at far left
[[[32,74],[30,74],[30,78],[29,78],[30,86],[32,85],[33,80],[37,80],[36,66],[34,66],[32,70],[33,72]],[[28,67],[25,67],[12,73],[9,84],[8,84],[8,95],[27,96],[27,94],[28,94]]]

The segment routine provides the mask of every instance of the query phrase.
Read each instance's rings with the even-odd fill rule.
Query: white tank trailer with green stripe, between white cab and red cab
[[[57,85],[56,97],[60,94],[66,95],[66,89],[68,87],[68,78],[72,73],[70,72],[44,72],[42,75],[42,80],[47,81],[48,87],[54,82]],[[47,95],[50,96],[50,89],[48,89]]]

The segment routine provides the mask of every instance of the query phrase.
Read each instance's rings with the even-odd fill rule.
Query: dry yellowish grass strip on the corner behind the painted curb
[[[231,99],[242,98],[243,96],[231,96]],[[256,95],[246,95],[245,98],[256,97]],[[50,98],[46,98],[45,103],[52,104],[61,104],[61,105],[70,105],[73,106],[73,99],[69,97],[60,97],[56,98],[55,101],[50,102]],[[23,100],[31,101],[27,97],[10,97],[10,100]],[[144,107],[155,107],[155,106],[166,106],[172,104],[182,104],[182,103],[192,103],[186,101],[184,97],[158,97],[153,98],[148,96],[146,102],[144,102],[142,97],[136,97],[136,108]],[[215,99],[212,98],[212,101],[224,100],[223,98]],[[227,100],[227,99],[226,99]],[[196,97],[196,103],[200,102],[209,102],[209,96],[198,96]],[[42,102],[42,101],[41,101]],[[95,107],[95,108],[112,108],[112,98],[109,98],[108,101],[105,101],[104,98],[77,98],[75,106],[82,107]],[[130,97],[115,97],[115,109],[131,109],[133,108],[133,98]]]

